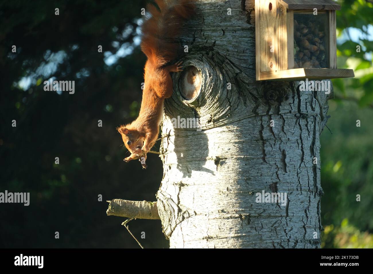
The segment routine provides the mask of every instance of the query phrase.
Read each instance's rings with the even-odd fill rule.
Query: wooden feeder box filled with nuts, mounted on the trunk
[[[332,0],[255,0],[256,79],[354,77],[337,69],[339,9]]]

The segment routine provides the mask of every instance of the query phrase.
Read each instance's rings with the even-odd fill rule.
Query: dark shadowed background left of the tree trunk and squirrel
[[[137,117],[146,57],[135,47],[108,66],[104,53],[117,52],[112,41],[132,46],[142,7],[144,1],[1,4],[0,191],[30,192],[31,202],[0,204],[0,247],[139,247],[120,225],[124,218],[106,215],[106,200],[156,201],[162,161],[149,154],[147,170],[125,163],[129,154],[116,131]],[[63,61],[50,57],[60,51]],[[57,69],[35,73],[48,63]],[[30,74],[34,82],[23,90],[17,83]],[[44,91],[52,76],[75,80],[75,94]],[[144,247],[168,247],[160,220],[133,220],[129,228]]]

